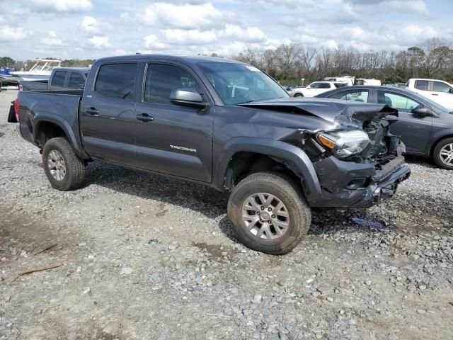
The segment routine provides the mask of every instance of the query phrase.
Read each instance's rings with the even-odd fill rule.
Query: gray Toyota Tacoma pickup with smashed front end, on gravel
[[[311,207],[367,208],[410,174],[394,109],[291,98],[231,60],[108,57],[84,91],[19,92],[11,113],[54,188],[79,188],[94,159],[202,183],[230,194],[239,239],[269,254],[299,243]]]

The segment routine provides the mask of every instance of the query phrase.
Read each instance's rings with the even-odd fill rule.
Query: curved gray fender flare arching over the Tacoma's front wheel
[[[259,137],[234,137],[231,138],[217,157],[214,166],[213,185],[219,190],[225,190],[224,181],[229,162],[238,152],[255,152],[276,159],[294,171],[303,182],[306,198],[321,195],[321,185],[311,160],[299,147],[290,145],[280,140],[269,140]]]

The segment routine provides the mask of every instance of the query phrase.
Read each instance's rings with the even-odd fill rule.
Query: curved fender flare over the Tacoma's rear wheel
[[[41,123],[52,123],[57,125],[63,130],[64,135],[66,135],[69,144],[74,149],[74,152],[76,152],[76,154],[83,159],[90,158],[88,154],[84,152],[84,149],[81,146],[80,138],[77,138],[76,135],[74,135],[74,131],[71,129],[69,123],[67,123],[67,121],[62,117],[59,117],[58,115],[52,115],[51,113],[35,113],[35,118],[33,119],[33,140],[35,141],[35,143],[39,139]]]

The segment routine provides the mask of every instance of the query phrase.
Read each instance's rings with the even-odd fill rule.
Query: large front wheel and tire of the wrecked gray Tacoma
[[[300,185],[275,172],[258,172],[239,182],[229,197],[228,215],[243,244],[273,255],[292,251],[311,223]]]

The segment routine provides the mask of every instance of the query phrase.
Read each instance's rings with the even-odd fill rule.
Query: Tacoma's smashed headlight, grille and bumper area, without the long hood
[[[302,148],[321,184],[312,206],[368,208],[394,196],[411,174],[406,151],[389,125],[398,118],[389,106],[351,106],[336,115],[336,129],[303,131]]]

